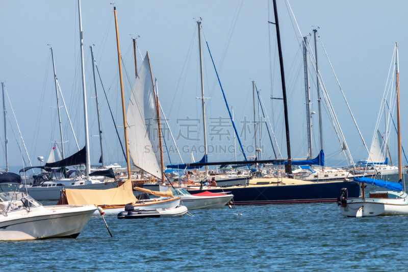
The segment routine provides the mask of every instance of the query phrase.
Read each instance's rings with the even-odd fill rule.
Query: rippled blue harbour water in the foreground
[[[237,206],[191,213],[194,217],[106,217],[113,237],[101,218],[92,217],[77,239],[0,242],[0,267],[27,271],[395,271],[408,265],[404,253],[408,216],[346,218],[334,203]]]

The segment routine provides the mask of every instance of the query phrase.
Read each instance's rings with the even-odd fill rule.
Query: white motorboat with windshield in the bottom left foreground
[[[0,240],[76,238],[97,208],[42,206],[23,192],[0,193]]]

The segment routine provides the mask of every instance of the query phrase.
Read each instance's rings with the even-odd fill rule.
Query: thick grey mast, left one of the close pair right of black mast
[[[303,66],[304,66],[304,91],[306,94],[306,121],[308,127],[308,147],[309,156],[308,159],[313,159],[313,142],[312,142],[312,114],[311,114],[311,103],[310,103],[310,84],[309,84],[309,52],[308,38],[303,37]]]

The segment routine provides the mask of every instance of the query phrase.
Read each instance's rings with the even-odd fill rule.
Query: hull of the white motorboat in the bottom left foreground
[[[58,206],[55,206],[58,207]],[[37,207],[43,208],[43,207]],[[49,207],[47,207],[49,208]],[[35,211],[0,218],[0,240],[32,240],[47,238],[76,238],[95,211],[93,206],[78,206],[65,212],[49,210],[49,214]],[[72,211],[75,209],[75,211]],[[18,218],[15,218],[15,217]]]

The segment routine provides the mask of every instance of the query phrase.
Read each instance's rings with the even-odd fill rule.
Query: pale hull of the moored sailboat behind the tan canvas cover
[[[117,186],[117,182],[108,182],[105,184],[93,183],[93,184],[84,184],[84,185],[72,185],[72,186],[53,186],[53,187],[41,187],[34,186],[28,187],[28,193],[33,199],[40,200],[59,200],[64,189],[92,189],[92,190],[106,190],[112,189]],[[19,189],[21,192],[25,192],[25,188],[21,187]]]

